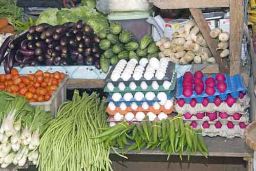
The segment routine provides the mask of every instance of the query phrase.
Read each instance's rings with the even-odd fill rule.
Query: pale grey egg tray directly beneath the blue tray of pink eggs
[[[189,103],[185,103],[182,107],[178,103],[175,104],[175,110],[180,114],[190,113],[197,114],[202,112],[226,112],[229,115],[234,113],[240,113],[242,115],[247,114],[247,110],[250,107],[250,98],[248,95],[245,95],[242,99],[238,98],[237,102],[234,103],[231,107],[227,105],[226,102],[222,102],[219,106],[216,106],[214,103],[209,103],[207,106],[203,106],[202,103],[197,103],[193,108]]]

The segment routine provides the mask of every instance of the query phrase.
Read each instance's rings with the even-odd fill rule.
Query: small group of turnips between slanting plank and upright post
[[[220,28],[215,28],[211,30],[210,37],[215,38],[218,41],[218,48],[217,50],[221,50],[221,58],[228,57],[229,56],[229,33],[223,32]]]

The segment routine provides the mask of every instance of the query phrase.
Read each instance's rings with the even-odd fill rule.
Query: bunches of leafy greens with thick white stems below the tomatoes
[[[0,91],[0,164],[38,163],[38,146],[51,121],[49,112],[33,108],[26,99]]]

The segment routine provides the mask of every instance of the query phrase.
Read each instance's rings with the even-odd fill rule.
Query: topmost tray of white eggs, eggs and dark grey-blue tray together
[[[142,59],[145,60],[146,58]],[[162,60],[162,63],[160,65],[163,66],[163,68],[158,67],[155,69],[154,67],[156,66],[153,65],[152,67],[151,65],[149,65],[148,61],[147,63],[142,64],[136,59],[135,60],[137,62],[134,62],[134,59],[131,60],[129,62],[126,62],[125,60],[120,60],[117,63],[116,67],[112,68],[109,74],[106,76],[105,82],[112,82],[114,87],[117,87],[119,82],[123,82],[125,86],[129,86],[129,83],[131,81],[134,81],[137,84],[139,84],[139,82],[145,81],[148,85],[151,84],[153,81],[157,81],[159,85],[162,85],[164,80],[172,80],[173,74],[175,73],[175,65],[174,63],[168,61],[168,59],[160,59],[160,62]],[[117,75],[117,77],[114,77],[114,75]],[[138,75],[139,77],[137,77]]]

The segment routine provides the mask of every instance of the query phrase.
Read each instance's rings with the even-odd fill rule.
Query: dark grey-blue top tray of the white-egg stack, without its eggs
[[[139,64],[137,63],[136,66],[138,66]],[[148,63],[147,63],[148,65]],[[146,67],[147,67],[146,65]],[[144,67],[144,68],[146,68]],[[155,76],[153,78],[151,78],[150,80],[146,80],[144,77],[141,77],[139,80],[135,80],[133,77],[131,77],[129,80],[127,81],[124,81],[122,78],[118,78],[117,81],[113,81],[110,77],[111,77],[111,74],[114,70],[114,67],[110,70],[109,74],[106,75],[106,78],[105,78],[105,82],[112,82],[113,85],[115,87],[118,86],[118,84],[120,82],[123,82],[125,84],[125,86],[129,86],[130,82],[131,81],[134,81],[136,83],[136,85],[138,86],[142,81],[145,81],[147,84],[152,84],[153,81],[157,81],[159,85],[162,85],[163,84],[163,81],[165,80],[172,80],[173,79],[173,75],[175,75],[175,64],[173,62],[168,62],[168,66],[167,66],[167,69],[166,69],[166,73],[165,73],[165,76],[159,80],[157,79]],[[144,74],[144,73],[143,73]]]

